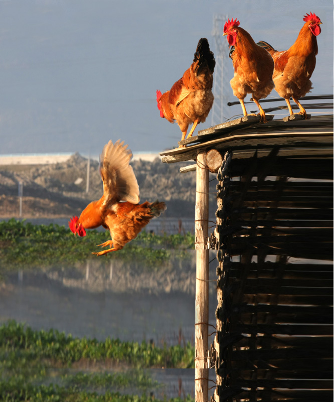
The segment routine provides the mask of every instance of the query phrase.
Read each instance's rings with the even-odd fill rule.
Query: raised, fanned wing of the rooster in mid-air
[[[100,174],[103,181],[105,203],[111,200],[139,203],[139,187],[132,166],[129,165],[132,153],[124,141],[109,141],[100,156]]]

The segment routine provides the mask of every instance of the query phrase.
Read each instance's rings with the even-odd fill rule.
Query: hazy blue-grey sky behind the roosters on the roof
[[[332,0],[0,0],[0,154],[93,156],[110,139],[132,152],[171,149],[182,133],[160,118],[156,89],[181,78],[202,37],[218,60],[214,17],[237,18],[255,41],[286,50],[310,12],[322,21],[311,94],[332,94]],[[217,40],[226,53],[226,37]],[[235,102],[232,62],[220,60],[224,99]],[[242,114],[225,109],[229,119]],[[219,123],[212,110],[194,135]]]

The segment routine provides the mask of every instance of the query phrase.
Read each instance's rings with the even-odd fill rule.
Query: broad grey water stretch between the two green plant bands
[[[165,273],[164,279],[155,272],[143,273],[138,267],[115,263],[111,278],[108,265],[4,272],[0,321],[15,319],[33,329],[55,328],[98,340],[146,340],[158,346],[193,343],[194,286],[185,283],[192,269],[179,270]],[[159,286],[163,280],[166,285]],[[133,291],[138,283],[138,291]],[[216,300],[212,291],[212,324]]]

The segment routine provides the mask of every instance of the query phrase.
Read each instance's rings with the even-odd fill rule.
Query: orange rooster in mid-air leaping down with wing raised
[[[103,226],[109,229],[111,240],[98,246],[109,249],[92,253],[104,255],[121,250],[134,239],[153,217],[166,209],[164,203],[139,203],[139,187],[129,161],[132,157],[127,145],[120,140],[108,142],[100,157],[100,174],[103,181],[103,195],[82,211],[80,218],[73,217],[69,227],[74,235],[86,236],[86,229]]]

